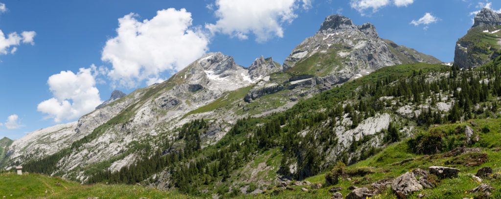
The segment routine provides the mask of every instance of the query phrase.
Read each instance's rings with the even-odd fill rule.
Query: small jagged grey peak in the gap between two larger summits
[[[265,76],[282,71],[284,68],[279,63],[273,61],[273,58],[264,58],[263,56],[256,58],[254,63],[248,68],[248,73],[251,79],[264,78]]]

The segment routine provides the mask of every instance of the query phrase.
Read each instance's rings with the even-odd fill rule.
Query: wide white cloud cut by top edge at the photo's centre
[[[298,16],[300,7],[311,8],[311,0],[216,0],[215,24],[206,24],[212,34],[222,33],[240,40],[256,36],[257,42],[266,42],[273,37],[284,37],[284,24],[290,24]]]

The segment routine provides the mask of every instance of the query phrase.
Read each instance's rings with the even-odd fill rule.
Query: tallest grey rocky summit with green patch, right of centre
[[[350,18],[331,15],[325,18],[319,31],[299,44],[284,62],[289,70],[298,63],[311,58],[310,65],[318,66],[315,75],[329,76],[334,83],[342,83],[357,74],[367,74],[381,67],[403,63],[441,63],[436,58],[417,51],[399,50],[389,47],[371,23],[353,24]],[[412,53],[410,53],[412,52]],[[431,59],[429,59],[431,58]],[[310,70],[301,67],[299,72]],[[342,77],[338,81],[337,77]]]

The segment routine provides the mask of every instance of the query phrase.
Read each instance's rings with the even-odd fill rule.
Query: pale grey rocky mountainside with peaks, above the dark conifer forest
[[[334,20],[338,18],[344,22]],[[321,40],[324,36],[328,39]],[[261,56],[244,68],[228,55],[207,53],[165,82],[125,97],[112,95],[107,104],[77,122],[39,129],[15,140],[0,165],[11,168],[17,162],[31,162],[39,167],[37,171],[86,182],[98,171],[117,172],[157,151],[164,156],[169,148],[182,150],[187,140],[179,136],[179,129],[184,124],[203,119],[207,126],[198,132],[197,142],[201,148],[208,147],[241,119],[283,112],[359,75],[402,63],[400,58],[406,58],[406,63],[439,62],[411,50],[411,54],[399,52],[397,58],[374,26],[353,25],[342,16],[326,18],[319,32],[297,49],[316,45],[322,49],[298,58],[295,66],[295,61],[287,61],[287,67]],[[398,47],[402,49],[406,48]],[[386,53],[379,56],[380,50]],[[341,51],[343,59],[336,53]],[[367,56],[374,59],[366,60]],[[290,57],[297,56],[293,52]],[[362,62],[364,68],[357,68]],[[349,76],[340,71],[349,71],[345,74]],[[50,163],[34,163],[40,158]]]

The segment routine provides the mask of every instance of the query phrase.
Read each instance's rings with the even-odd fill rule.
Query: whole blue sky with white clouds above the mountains
[[[12,139],[76,121],[113,90],[168,79],[206,52],[282,63],[329,15],[450,62],[472,12],[501,12],[474,0],[0,2],[0,137]]]

